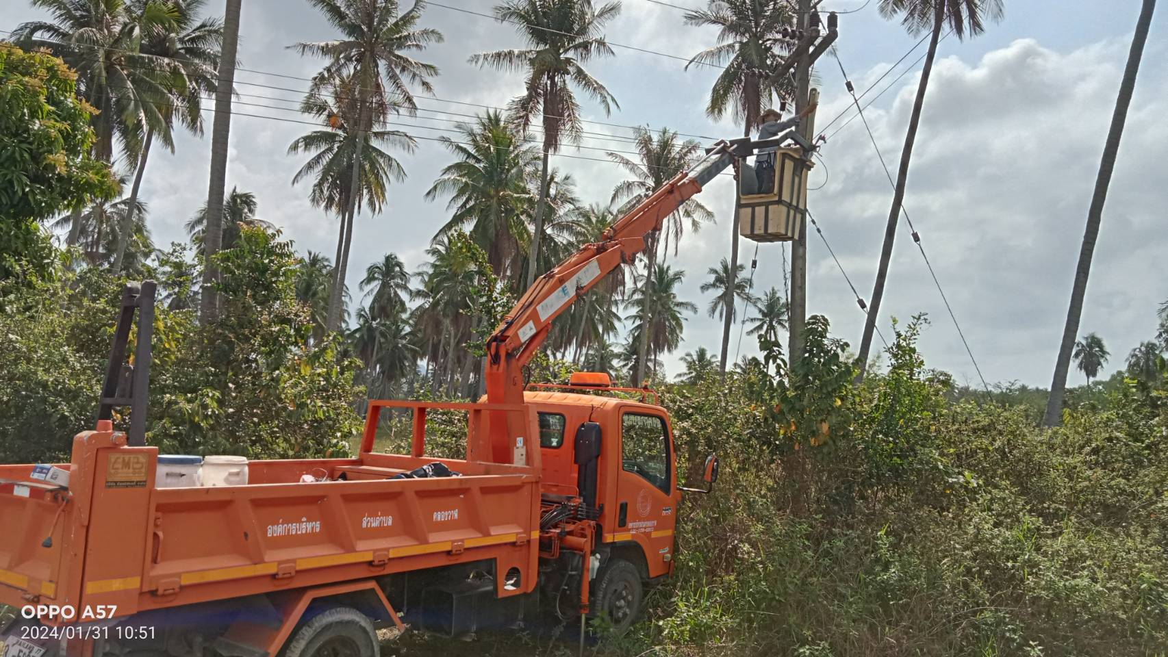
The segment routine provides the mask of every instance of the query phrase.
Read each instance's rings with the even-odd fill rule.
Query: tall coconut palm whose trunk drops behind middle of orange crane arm
[[[547,211],[548,156],[566,139],[579,144],[580,106],[573,86],[599,103],[605,116],[618,107],[617,99],[584,64],[595,57],[612,56],[604,40],[604,26],[620,13],[620,2],[595,7],[591,0],[503,0],[495,18],[517,26],[528,48],[472,55],[470,62],[503,71],[523,72],[523,93],[512,100],[514,123],[527,133],[538,119],[543,130],[543,162],[535,229],[528,250],[524,288],[535,281],[540,264],[540,240]]]

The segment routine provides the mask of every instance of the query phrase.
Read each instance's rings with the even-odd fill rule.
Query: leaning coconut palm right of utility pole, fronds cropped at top
[[[860,341],[860,373],[863,378],[871,351],[872,334],[880,320],[880,305],[884,296],[884,281],[888,278],[888,265],[892,258],[892,243],[896,240],[896,225],[901,221],[901,204],[904,202],[904,189],[909,182],[909,163],[912,160],[912,147],[917,141],[917,128],[920,126],[920,111],[925,104],[925,91],[933,71],[933,60],[937,57],[937,44],[941,32],[948,27],[958,39],[974,37],[986,30],[986,22],[997,22],[1002,19],[1002,0],[881,0],[881,15],[885,19],[897,19],[912,35],[929,32],[929,50],[925,53],[925,64],[920,70],[920,82],[917,83],[917,98],[909,117],[909,130],[904,134],[904,148],[901,151],[901,168],[896,174],[896,186],[892,191],[892,208],[884,226],[884,245],[881,249],[880,266],[876,270],[876,282],[868,302],[868,320],[864,322],[863,337]],[[1073,336],[1073,334],[1071,334]],[[1073,337],[1072,337],[1073,340]],[[1069,351],[1068,351],[1069,352]]]

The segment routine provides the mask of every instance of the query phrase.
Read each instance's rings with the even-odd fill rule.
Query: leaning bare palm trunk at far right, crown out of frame
[[[1115,159],[1119,153],[1119,141],[1124,137],[1124,125],[1127,123],[1127,109],[1132,104],[1135,91],[1135,76],[1140,72],[1140,61],[1143,57],[1143,46],[1148,41],[1148,27],[1155,12],[1156,0],[1143,0],[1140,19],[1135,23],[1132,36],[1132,49],[1127,55],[1127,67],[1124,79],[1119,84],[1119,96],[1115,98],[1115,112],[1111,118],[1111,130],[1104,145],[1103,159],[1099,162],[1099,175],[1096,179],[1094,195],[1087,210],[1087,226],[1083,232],[1083,247],[1079,250],[1079,264],[1075,270],[1075,286],[1071,288],[1071,306],[1066,312],[1066,326],[1063,328],[1063,342],[1058,347],[1058,359],[1055,362],[1055,378],[1050,383],[1050,397],[1047,400],[1047,413],[1043,426],[1052,427],[1063,421],[1063,394],[1066,392],[1066,372],[1071,364],[1071,351],[1075,348],[1075,336],[1079,333],[1079,320],[1083,315],[1083,299],[1087,291],[1087,277],[1091,274],[1091,258],[1094,256],[1096,240],[1099,238],[1099,224],[1103,221],[1103,207],[1107,201],[1107,189],[1115,170]]]

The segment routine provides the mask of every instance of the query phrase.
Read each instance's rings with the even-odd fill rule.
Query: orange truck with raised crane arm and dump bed
[[[161,481],[172,457],[145,441],[154,284],[127,287],[97,428],[68,463],[0,466],[0,656],[368,657],[382,627],[466,635],[542,613],[579,617],[582,635],[589,616],[627,629],[673,572],[682,491],[697,490],[679,485],[669,415],[607,375],[526,386],[522,368],[557,315],[759,144],[719,142],[543,274],[488,341],[480,403],[371,401],[353,459]],[[798,210],[779,196],[776,215]],[[385,410],[412,417],[409,454],[375,450]],[[436,412],[465,415],[464,459],[426,455]],[[697,491],[716,477],[710,456]]]

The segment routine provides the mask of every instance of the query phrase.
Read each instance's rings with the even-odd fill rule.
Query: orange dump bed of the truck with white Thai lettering
[[[411,455],[371,452],[390,406],[422,418]],[[157,488],[158,449],[126,446],[109,422],[75,439],[68,489],[0,466],[0,602],[123,617],[478,560],[520,575],[514,587],[496,578],[500,597],[530,592],[538,449],[520,464],[478,459],[473,441],[466,460],[424,457],[427,408],[467,412],[472,436],[477,422],[522,413],[538,435],[528,406],[374,401],[359,457],[253,461],[246,485]],[[434,461],[461,476],[390,478]],[[300,482],[322,473],[333,481]]]

